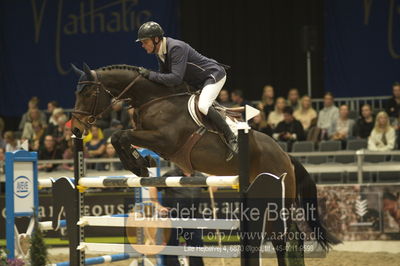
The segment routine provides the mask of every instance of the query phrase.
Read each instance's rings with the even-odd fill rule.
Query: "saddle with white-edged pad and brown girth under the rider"
[[[178,149],[170,159],[176,162],[179,167],[188,173],[193,173],[193,166],[191,161],[191,152],[196,143],[201,139],[205,132],[218,134],[221,140],[226,143],[225,138],[220,134],[215,125],[213,125],[207,117],[202,114],[198,108],[199,94],[192,94],[188,100],[188,111],[192,120],[198,125],[198,129],[193,132],[186,140],[185,144]],[[212,105],[220,115],[225,118],[225,121],[230,126],[232,132],[237,136],[238,130],[236,123],[242,121],[242,112],[244,107],[226,108],[214,101]]]

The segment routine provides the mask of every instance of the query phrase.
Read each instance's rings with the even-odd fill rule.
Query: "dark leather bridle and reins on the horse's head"
[[[108,90],[108,89],[103,85],[103,83],[101,83],[101,82],[99,81],[99,78],[98,78],[98,76],[97,76],[96,71],[91,70],[91,73],[92,73],[92,76],[94,77],[94,80],[93,80],[93,81],[85,80],[85,81],[80,81],[80,82],[78,82],[78,85],[92,85],[92,86],[95,86],[95,88],[96,88],[96,93],[93,95],[93,96],[95,97],[95,100],[94,100],[94,102],[92,103],[92,106],[91,106],[91,108],[90,108],[90,111],[88,112],[88,111],[75,110],[75,109],[74,109],[74,110],[72,111],[72,113],[71,113],[71,114],[72,114],[72,117],[75,118],[76,120],[78,120],[79,123],[81,123],[82,125],[84,125],[85,128],[90,128],[92,125],[94,125],[94,123],[96,122],[96,120],[97,120],[98,118],[101,118],[102,115],[103,115],[105,112],[107,112],[112,106],[114,106],[116,103],[121,102],[121,101],[128,101],[128,102],[132,101],[131,98],[122,98],[122,96],[123,96],[126,92],[128,92],[128,90],[129,90],[130,88],[132,88],[132,86],[136,83],[136,81],[137,81],[137,80],[140,78],[140,76],[141,76],[140,74],[138,74],[138,75],[128,84],[128,86],[126,86],[126,87],[122,90],[122,92],[121,92],[118,96],[115,96],[115,95],[113,95],[113,94],[111,93],[110,90]],[[111,96],[111,98],[112,98],[113,100],[111,101],[111,103],[110,103],[104,110],[102,110],[100,113],[96,114],[96,109],[97,109],[97,105],[98,105],[98,103],[99,103],[99,96],[100,96],[100,92],[101,92],[101,91],[106,92],[108,95]],[[78,116],[76,116],[77,114],[88,116],[87,121],[86,121],[86,122],[85,122],[85,121],[82,121]]]

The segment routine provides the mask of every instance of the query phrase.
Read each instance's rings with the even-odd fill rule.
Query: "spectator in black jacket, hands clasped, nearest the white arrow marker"
[[[293,117],[292,107],[286,106],[283,109],[283,121],[279,122],[275,128],[273,137],[276,140],[287,142],[288,148],[291,147],[293,142],[306,139],[303,126],[300,121]]]

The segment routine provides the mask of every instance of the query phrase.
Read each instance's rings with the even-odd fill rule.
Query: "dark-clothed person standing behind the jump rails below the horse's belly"
[[[163,175],[164,177],[168,176],[203,176],[200,173],[195,173],[191,175],[190,173],[185,173],[181,169],[176,168],[171,171],[168,171]],[[149,193],[151,200],[155,202],[156,206],[159,206],[157,209],[161,213],[166,213],[169,210],[169,217],[172,219],[182,218],[198,218],[198,214],[200,211],[200,197],[202,192],[201,187],[166,187],[166,188],[149,188]],[[158,205],[158,193],[157,191],[161,190],[164,192],[162,198],[162,206]],[[190,212],[185,212],[182,210],[191,210]],[[167,246],[179,246],[179,238],[181,236],[184,237],[184,240],[188,246],[193,247],[202,247],[203,239],[202,239],[202,230],[200,229],[177,229],[171,228],[170,237],[167,243]],[[165,264],[166,265],[181,265],[178,260],[178,256],[165,256]],[[189,265],[202,266],[204,265],[202,257],[189,257]]]

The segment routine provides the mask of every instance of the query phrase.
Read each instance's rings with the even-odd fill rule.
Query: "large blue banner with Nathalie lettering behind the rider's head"
[[[157,68],[135,43],[146,21],[178,37],[178,0],[0,1],[0,114],[21,115],[32,96],[41,108],[51,100],[74,103],[70,63],[91,68],[130,64]]]

